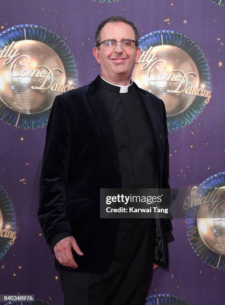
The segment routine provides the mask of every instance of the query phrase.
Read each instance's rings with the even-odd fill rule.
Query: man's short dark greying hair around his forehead
[[[97,28],[96,33],[95,33],[95,45],[96,46],[99,45],[99,43],[100,43],[100,32],[101,32],[101,30],[103,29],[104,25],[106,25],[109,22],[124,22],[124,23],[130,25],[132,27],[133,31],[134,31],[134,34],[135,34],[135,45],[136,46],[139,45],[139,41],[138,41],[139,40],[139,35],[138,35],[136,25],[133,22],[127,20],[123,16],[111,16],[108,19],[102,21]]]

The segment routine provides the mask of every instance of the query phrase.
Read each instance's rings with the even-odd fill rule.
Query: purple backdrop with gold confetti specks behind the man
[[[209,61],[212,99],[189,126],[169,133],[170,184],[175,188],[199,185],[225,170],[225,68],[218,65],[219,61],[225,65],[224,13],[224,7],[210,0],[120,0],[116,3],[1,0],[0,26],[3,31],[13,25],[32,23],[59,34],[75,55],[79,86],[90,83],[100,72],[92,55],[94,33],[98,24],[112,14],[132,20],[140,36],[154,30],[173,29],[191,37]],[[171,24],[164,21],[168,18]],[[53,305],[62,305],[54,258],[43,235],[39,236],[41,228],[36,216],[46,129],[22,130],[0,121],[0,130],[0,184],[13,201],[17,232],[14,245],[0,261],[0,294],[34,294]],[[154,272],[149,294],[175,294],[192,305],[225,304],[223,271],[212,268],[195,254],[187,238],[184,219],[173,220],[173,227],[176,240],[170,244],[170,269]]]

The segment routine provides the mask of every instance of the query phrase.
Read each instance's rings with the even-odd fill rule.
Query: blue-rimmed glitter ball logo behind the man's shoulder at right
[[[139,39],[139,45],[133,80],[163,100],[169,131],[187,126],[211,99],[205,54],[190,37],[170,30],[151,32]]]

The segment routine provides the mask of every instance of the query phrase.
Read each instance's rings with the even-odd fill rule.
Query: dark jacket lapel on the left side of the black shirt
[[[112,132],[112,126],[110,124],[108,111],[103,100],[103,94],[100,87],[99,76],[90,84],[89,89],[87,91],[87,96],[90,106],[99,124],[103,138],[108,146],[116,172],[119,175],[119,177],[121,177],[118,156],[117,156],[114,136]]]

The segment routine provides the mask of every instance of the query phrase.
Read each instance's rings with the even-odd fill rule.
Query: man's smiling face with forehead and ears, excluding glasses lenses
[[[135,40],[133,28],[124,22],[108,22],[100,32],[100,42],[103,40],[122,39]],[[99,48],[93,49],[97,62],[101,65],[102,75],[106,80],[114,82],[115,80],[130,79],[135,63],[140,57],[140,48],[135,44],[130,49],[123,48],[120,42],[117,42],[115,48],[108,49],[102,43]]]

